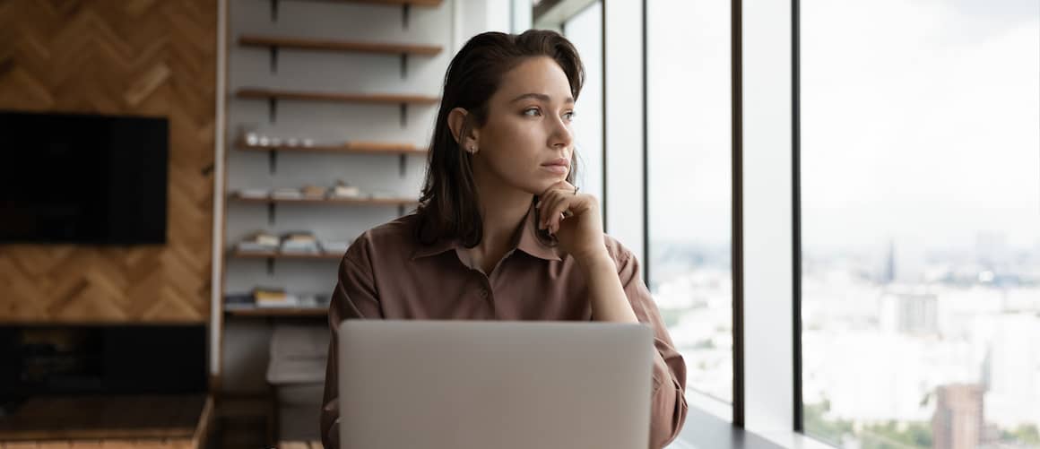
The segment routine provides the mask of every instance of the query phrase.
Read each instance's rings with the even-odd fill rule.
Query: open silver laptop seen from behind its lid
[[[650,442],[643,324],[347,320],[343,449],[633,449]]]

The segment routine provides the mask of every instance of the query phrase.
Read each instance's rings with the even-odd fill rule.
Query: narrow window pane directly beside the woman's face
[[[581,55],[586,82],[575,105],[574,138],[577,143],[581,190],[603,197],[603,4],[597,1],[564,24],[564,34]]]

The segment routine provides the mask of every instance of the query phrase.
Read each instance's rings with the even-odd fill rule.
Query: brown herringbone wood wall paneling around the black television
[[[167,243],[0,245],[0,321],[208,319],[215,83],[215,0],[0,0],[0,108],[170,118]]]

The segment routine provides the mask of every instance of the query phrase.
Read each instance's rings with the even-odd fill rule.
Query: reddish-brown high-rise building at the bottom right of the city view
[[[983,389],[954,384],[936,389],[938,398],[932,416],[932,447],[976,449],[983,437]]]

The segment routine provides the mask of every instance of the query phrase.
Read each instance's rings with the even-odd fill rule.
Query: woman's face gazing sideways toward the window
[[[475,133],[478,178],[490,175],[531,194],[567,178],[574,151],[574,99],[555,61],[524,60],[505,73],[488,103],[488,120]]]

